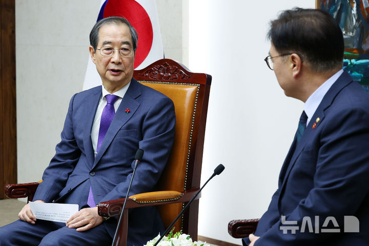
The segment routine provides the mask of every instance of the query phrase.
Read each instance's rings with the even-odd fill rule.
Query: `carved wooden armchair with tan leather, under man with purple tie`
[[[115,245],[126,245],[128,209],[158,206],[165,227],[180,213],[200,188],[202,149],[208,111],[211,76],[192,73],[171,59],[161,59],[145,69],[134,71],[133,77],[170,97],[175,106],[175,140],[169,161],[159,180],[158,192],[132,195],[128,198]],[[8,185],[10,198],[32,200],[38,183]],[[197,240],[198,199],[175,224],[175,231]],[[104,217],[119,215],[125,198],[100,202],[98,213]]]

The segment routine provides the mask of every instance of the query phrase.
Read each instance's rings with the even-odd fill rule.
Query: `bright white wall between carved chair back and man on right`
[[[212,75],[204,142],[199,235],[241,244],[227,232],[232,219],[259,218],[277,189],[303,104],[288,98],[263,60],[269,21],[314,0],[190,1],[189,67]]]

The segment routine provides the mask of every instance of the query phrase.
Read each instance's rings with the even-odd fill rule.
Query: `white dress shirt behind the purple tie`
[[[119,98],[114,103],[115,112],[117,111],[117,109],[118,109],[118,107],[121,103],[121,100],[124,97],[124,95],[126,94],[126,91],[127,91],[130,84],[131,84],[131,82],[128,83],[125,87],[121,88],[119,91],[116,91],[116,92],[113,93],[113,95],[119,96]],[[92,130],[91,130],[91,141],[92,141],[92,147],[94,149],[95,155],[97,154],[96,148],[97,148],[98,133],[99,133],[99,130],[100,130],[101,114],[103,113],[104,107],[107,105],[107,100],[106,100],[105,96],[110,94],[104,88],[104,86],[102,86],[102,85],[101,85],[101,89],[103,91],[103,94],[101,94],[99,104],[97,106],[97,110],[96,110],[96,114],[95,114],[95,119],[94,119],[94,122],[93,122],[93,125],[92,125]]]

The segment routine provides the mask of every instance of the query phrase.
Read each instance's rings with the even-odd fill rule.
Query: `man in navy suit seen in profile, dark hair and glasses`
[[[326,12],[296,8],[268,36],[267,65],[305,104],[268,211],[242,242],[369,245],[369,95],[342,70],[340,27]]]

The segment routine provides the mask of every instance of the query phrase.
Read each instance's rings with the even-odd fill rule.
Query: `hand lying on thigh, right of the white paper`
[[[103,223],[104,218],[97,214],[97,207],[81,209],[73,214],[66,223],[68,228],[77,228],[77,232],[87,231]]]

